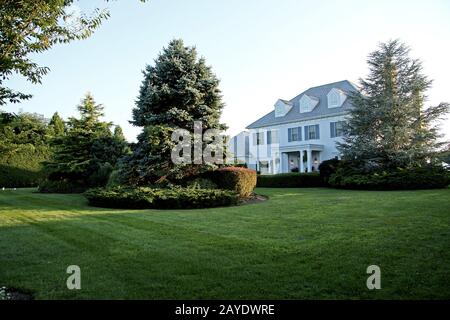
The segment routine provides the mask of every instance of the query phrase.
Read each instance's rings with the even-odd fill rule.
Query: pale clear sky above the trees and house
[[[90,91],[105,105],[106,119],[129,140],[128,124],[143,79],[173,38],[195,45],[221,79],[228,133],[311,86],[367,74],[366,57],[377,44],[399,38],[434,79],[429,103],[450,102],[450,1],[432,0],[81,0],[81,9],[110,8],[111,17],[87,39],[58,45],[35,60],[51,68],[42,85],[17,78],[16,89],[34,94],[6,110],[50,117],[76,115]],[[450,120],[443,126],[450,138]]]

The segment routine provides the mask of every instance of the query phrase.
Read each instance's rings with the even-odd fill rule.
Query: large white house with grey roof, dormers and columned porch
[[[347,97],[356,90],[344,80],[279,99],[273,111],[233,137],[229,149],[262,174],[316,171],[321,161],[339,157],[336,142],[351,108]]]

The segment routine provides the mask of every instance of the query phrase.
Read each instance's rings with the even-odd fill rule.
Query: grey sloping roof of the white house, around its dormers
[[[351,107],[349,99],[345,99],[342,107],[328,108],[327,94],[333,88],[342,90],[346,94],[348,94],[349,92],[354,92],[354,91],[358,90],[356,88],[356,86],[348,80],[333,82],[333,83],[325,84],[322,86],[309,88],[308,90],[302,92],[295,98],[287,101],[289,104],[292,104],[293,107],[285,116],[275,117],[275,111],[272,110],[271,112],[269,112],[262,118],[256,120],[255,122],[253,122],[252,124],[247,126],[247,129],[255,129],[255,128],[261,128],[261,127],[273,126],[273,125],[278,125],[278,124],[283,124],[283,123],[308,120],[308,119],[313,119],[313,118],[317,118],[317,117],[322,117],[322,116],[327,116],[327,115],[331,116],[334,114],[347,112]],[[300,113],[299,101],[303,95],[308,95],[310,97],[315,97],[315,98],[319,99],[319,104],[311,112]],[[282,99],[280,99],[280,100],[282,100]]]

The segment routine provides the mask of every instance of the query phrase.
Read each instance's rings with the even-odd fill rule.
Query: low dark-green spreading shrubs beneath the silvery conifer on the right
[[[450,184],[450,173],[442,167],[419,167],[372,173],[355,173],[339,167],[329,180],[333,187],[364,190],[414,190],[445,188]]]

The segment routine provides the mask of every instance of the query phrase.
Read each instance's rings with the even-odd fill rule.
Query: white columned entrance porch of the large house
[[[319,170],[323,145],[304,144],[280,148],[281,173],[314,172]]]

